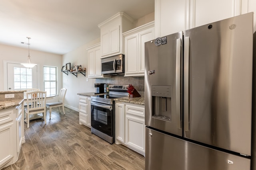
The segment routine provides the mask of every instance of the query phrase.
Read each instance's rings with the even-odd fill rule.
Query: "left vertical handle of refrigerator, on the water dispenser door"
[[[180,119],[180,57],[181,57],[181,39],[176,40],[176,115],[177,115],[177,127],[181,129]]]

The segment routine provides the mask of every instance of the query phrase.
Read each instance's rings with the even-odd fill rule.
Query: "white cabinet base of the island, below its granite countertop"
[[[18,160],[24,138],[24,105],[0,111],[0,169]]]

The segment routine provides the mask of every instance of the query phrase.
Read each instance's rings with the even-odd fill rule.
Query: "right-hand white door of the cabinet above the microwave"
[[[120,52],[120,29],[118,27],[114,27],[109,31],[110,35],[110,46],[109,46],[109,54],[119,53]]]

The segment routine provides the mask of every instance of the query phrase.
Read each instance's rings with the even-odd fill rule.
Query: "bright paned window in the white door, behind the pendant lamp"
[[[14,69],[14,90],[32,88],[32,69],[13,67]]]

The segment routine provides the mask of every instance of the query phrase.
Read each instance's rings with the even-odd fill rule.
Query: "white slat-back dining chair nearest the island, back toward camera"
[[[46,92],[33,91],[26,93],[27,103],[31,104],[31,107],[25,108],[27,127],[29,127],[30,115],[42,113],[44,124],[46,124]],[[40,117],[38,117],[40,118]]]

